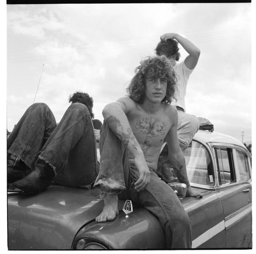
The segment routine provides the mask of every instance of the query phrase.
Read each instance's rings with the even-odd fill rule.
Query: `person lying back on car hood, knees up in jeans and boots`
[[[77,103],[77,96],[83,101]],[[93,98],[74,93],[57,125],[45,103],[34,103],[7,139],[7,184],[37,193],[57,184],[90,189],[99,163],[91,119]]]

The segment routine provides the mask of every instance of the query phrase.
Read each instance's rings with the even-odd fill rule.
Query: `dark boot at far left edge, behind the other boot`
[[[8,154],[7,157],[7,184],[19,181],[26,177],[32,170],[19,157]]]

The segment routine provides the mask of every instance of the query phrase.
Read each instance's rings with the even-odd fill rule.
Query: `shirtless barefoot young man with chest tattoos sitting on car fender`
[[[166,138],[169,159],[187,194],[202,196],[190,187],[185,159],[177,138],[178,115],[168,103],[175,95],[175,74],[165,56],[148,57],[135,69],[128,96],[106,105],[101,128],[101,163],[94,187],[104,193],[104,208],[97,222],[118,214],[118,194],[158,217],[167,248],[190,248],[191,226],[174,191],[158,178],[158,157]],[[174,233],[175,232],[175,233]]]

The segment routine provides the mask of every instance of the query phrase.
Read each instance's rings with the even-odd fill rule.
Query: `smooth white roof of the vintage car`
[[[233,138],[231,136],[228,136],[226,134],[222,134],[216,131],[203,131],[199,130],[195,136],[196,139],[199,139],[205,143],[225,143],[225,144],[234,144],[237,146],[242,146],[243,148],[246,148],[242,142],[237,140],[236,138]]]

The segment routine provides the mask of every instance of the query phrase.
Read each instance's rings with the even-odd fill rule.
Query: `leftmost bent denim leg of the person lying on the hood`
[[[7,139],[7,152],[18,156],[31,169],[39,151],[56,128],[56,120],[45,103],[34,103],[24,113]]]

